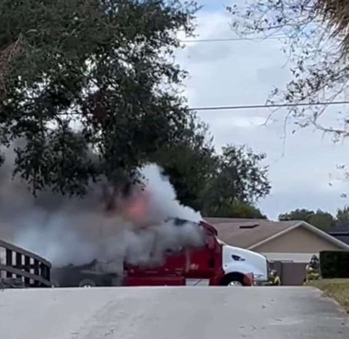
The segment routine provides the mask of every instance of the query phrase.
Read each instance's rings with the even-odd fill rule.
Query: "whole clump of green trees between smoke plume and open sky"
[[[217,155],[207,126],[196,123],[184,141],[161,148],[150,160],[169,176],[179,200],[206,216],[265,218],[253,205],[270,190],[267,168],[259,164],[264,157],[235,146]]]

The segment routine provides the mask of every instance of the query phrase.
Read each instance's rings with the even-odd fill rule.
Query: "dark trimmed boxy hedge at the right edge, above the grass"
[[[349,252],[320,252],[320,271],[324,279],[349,278]]]

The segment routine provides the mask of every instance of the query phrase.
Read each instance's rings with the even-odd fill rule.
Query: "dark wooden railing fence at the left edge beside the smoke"
[[[0,287],[51,287],[50,271],[44,258],[0,240]]]

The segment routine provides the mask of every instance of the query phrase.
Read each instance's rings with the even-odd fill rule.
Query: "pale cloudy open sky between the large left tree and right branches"
[[[198,38],[233,37],[224,9],[229,2],[202,0],[201,4],[205,6],[198,14]],[[277,40],[187,43],[177,59],[190,73],[186,83],[190,106],[263,104],[273,86],[283,86],[290,78],[280,46]],[[335,213],[347,203],[340,194],[349,190],[349,183],[336,179],[340,175],[336,165],[347,163],[348,144],[333,144],[312,129],[292,135],[289,125],[283,145],[285,111],[261,126],[269,114],[267,109],[199,112],[210,125],[217,148],[246,144],[267,153],[273,189],[259,206],[270,218],[302,207]]]

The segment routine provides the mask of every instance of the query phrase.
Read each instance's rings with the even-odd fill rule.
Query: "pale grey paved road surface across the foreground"
[[[0,292],[4,339],[348,339],[348,319],[310,287]]]

